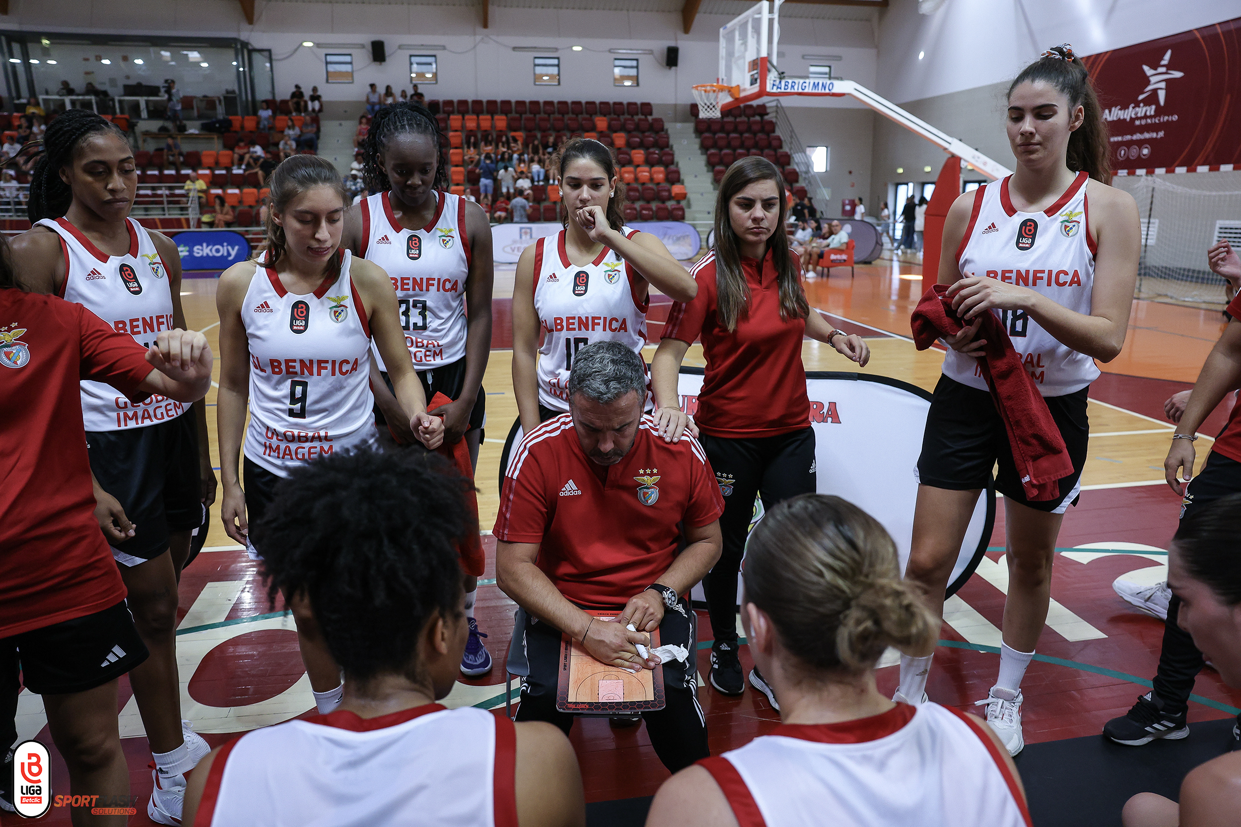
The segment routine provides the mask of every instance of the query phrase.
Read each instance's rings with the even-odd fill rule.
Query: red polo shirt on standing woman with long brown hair
[[[694,419],[704,434],[727,438],[778,436],[810,427],[810,399],[802,366],[804,319],[781,319],[779,281],[771,250],[759,262],[741,259],[750,285],[750,307],[737,329],[716,315],[715,250],[691,273],[699,291],[689,304],[675,303],[664,338],[689,345],[702,337],[706,376]]]

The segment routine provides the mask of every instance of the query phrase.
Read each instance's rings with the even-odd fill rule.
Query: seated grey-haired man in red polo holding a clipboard
[[[642,413],[644,368],[620,342],[577,352],[570,412],[527,434],[509,462],[495,565],[500,589],[531,617],[517,720],[546,720],[566,734],[572,727],[573,717],[556,709],[562,632],[628,670],[660,665],[635,646],[649,646],[655,629],[661,645],[684,647],[684,660],[660,666],[665,708],[643,714],[652,746],[675,772],[710,754],[685,595],[720,557],[724,500],[697,440],[653,433]],[[619,615],[602,621],[583,609]]]

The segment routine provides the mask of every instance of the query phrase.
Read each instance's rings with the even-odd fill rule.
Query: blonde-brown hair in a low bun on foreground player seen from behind
[[[746,543],[746,600],[803,671],[860,673],[884,650],[917,650],[939,624],[901,579],[896,543],[840,497],[803,493],[767,512]]]

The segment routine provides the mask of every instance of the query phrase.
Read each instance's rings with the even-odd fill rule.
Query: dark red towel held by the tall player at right
[[[913,343],[920,351],[931,347],[941,336],[968,327],[957,317],[952,300],[944,298],[947,291],[947,285],[931,285],[913,310],[910,325]],[[1060,428],[1021,365],[1021,357],[1013,348],[1000,320],[990,311],[982,314],[982,319],[978,336],[985,338],[987,345],[983,346],[984,358],[979,360],[979,367],[1008,430],[1021,487],[1028,500],[1055,500],[1060,496],[1059,481],[1073,472]]]

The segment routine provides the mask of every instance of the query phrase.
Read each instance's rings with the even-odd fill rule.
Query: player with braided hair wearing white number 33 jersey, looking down
[[[362,175],[372,195],[345,213],[341,247],[375,262],[397,294],[401,329],[427,399],[452,399],[431,413],[444,419],[444,439],[464,435],[478,466],[491,352],[491,227],[475,203],[448,192],[448,164],[434,115],[412,103],[383,107],[367,133]],[[468,312],[467,312],[468,311]],[[383,358],[374,351],[375,424],[385,448],[416,444],[392,396]],[[478,577],[467,573],[469,642],[462,672],[491,671],[478,630]]]

